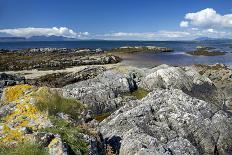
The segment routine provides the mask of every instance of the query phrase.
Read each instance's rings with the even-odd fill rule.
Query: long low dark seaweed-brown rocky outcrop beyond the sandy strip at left
[[[25,49],[1,52],[0,71],[55,70],[81,65],[104,65],[118,63],[117,56],[99,50],[66,48]]]

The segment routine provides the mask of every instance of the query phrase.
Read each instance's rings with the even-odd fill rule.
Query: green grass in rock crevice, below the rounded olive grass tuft
[[[54,116],[51,116],[50,120],[54,127],[41,129],[41,131],[59,134],[62,140],[68,144],[69,154],[76,155],[87,153],[88,144],[80,136],[81,129]]]

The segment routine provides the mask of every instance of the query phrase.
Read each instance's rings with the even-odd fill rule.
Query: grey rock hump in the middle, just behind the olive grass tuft
[[[94,114],[116,110],[124,104],[121,94],[135,89],[133,78],[116,71],[106,71],[96,78],[63,88],[64,96],[84,102]]]

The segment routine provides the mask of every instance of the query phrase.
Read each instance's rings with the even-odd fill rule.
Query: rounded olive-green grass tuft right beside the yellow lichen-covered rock
[[[50,92],[49,95],[43,94],[41,98],[42,100],[35,105],[40,111],[48,111],[50,116],[63,112],[73,119],[80,119],[80,113],[85,109],[78,100],[61,97],[57,92]]]

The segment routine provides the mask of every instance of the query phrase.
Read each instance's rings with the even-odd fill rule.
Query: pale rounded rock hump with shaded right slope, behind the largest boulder
[[[180,89],[190,96],[213,101],[221,106],[221,97],[212,81],[191,67],[158,66],[147,71],[147,75],[141,80],[139,87],[149,91],[157,88]]]

